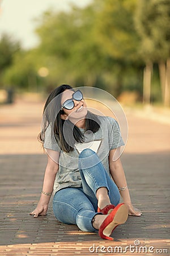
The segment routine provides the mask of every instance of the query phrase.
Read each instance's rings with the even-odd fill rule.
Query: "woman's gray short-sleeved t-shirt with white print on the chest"
[[[82,144],[76,143],[74,150],[70,152],[62,151],[57,142],[52,140],[50,125],[45,131],[44,148],[60,153],[59,169],[54,181],[54,194],[62,188],[82,186],[78,158],[80,152],[85,148],[91,148],[96,152],[109,174],[109,151],[113,148],[124,146],[124,141],[121,137],[118,122],[114,118],[104,116],[98,116],[98,118],[101,122],[99,130],[96,133],[92,133],[92,131],[84,133],[84,129],[80,128],[86,140]]]

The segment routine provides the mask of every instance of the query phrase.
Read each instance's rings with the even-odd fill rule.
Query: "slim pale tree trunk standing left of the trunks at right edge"
[[[151,62],[146,63],[143,71],[143,103],[150,104],[151,101],[151,79],[152,79],[152,66]]]

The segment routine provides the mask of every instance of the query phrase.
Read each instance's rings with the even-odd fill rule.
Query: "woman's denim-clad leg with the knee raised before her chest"
[[[108,189],[111,204],[120,202],[120,192],[117,185],[109,177],[97,154],[89,148],[79,155],[79,170],[82,177],[83,191],[97,210],[96,191],[101,187]]]

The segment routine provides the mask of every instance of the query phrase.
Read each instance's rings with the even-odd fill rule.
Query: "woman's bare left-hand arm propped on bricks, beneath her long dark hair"
[[[59,152],[55,152],[55,155],[56,154],[58,154],[58,158],[59,158]],[[39,203],[37,204],[36,209],[33,210],[33,212],[29,213],[29,214],[33,215],[34,217],[46,215],[50,197],[53,192],[54,180],[56,179],[56,174],[58,171],[58,163],[57,163],[58,161],[52,160],[52,158],[50,156],[48,154],[48,163],[46,165],[44,182],[43,182],[43,187],[42,187],[42,191],[44,193],[43,192],[41,193],[41,197],[40,197]],[[48,193],[50,195],[46,195]]]

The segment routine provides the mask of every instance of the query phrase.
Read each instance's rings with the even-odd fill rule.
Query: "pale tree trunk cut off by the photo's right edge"
[[[170,58],[167,59],[167,68],[165,75],[165,93],[164,93],[164,106],[170,105]]]

